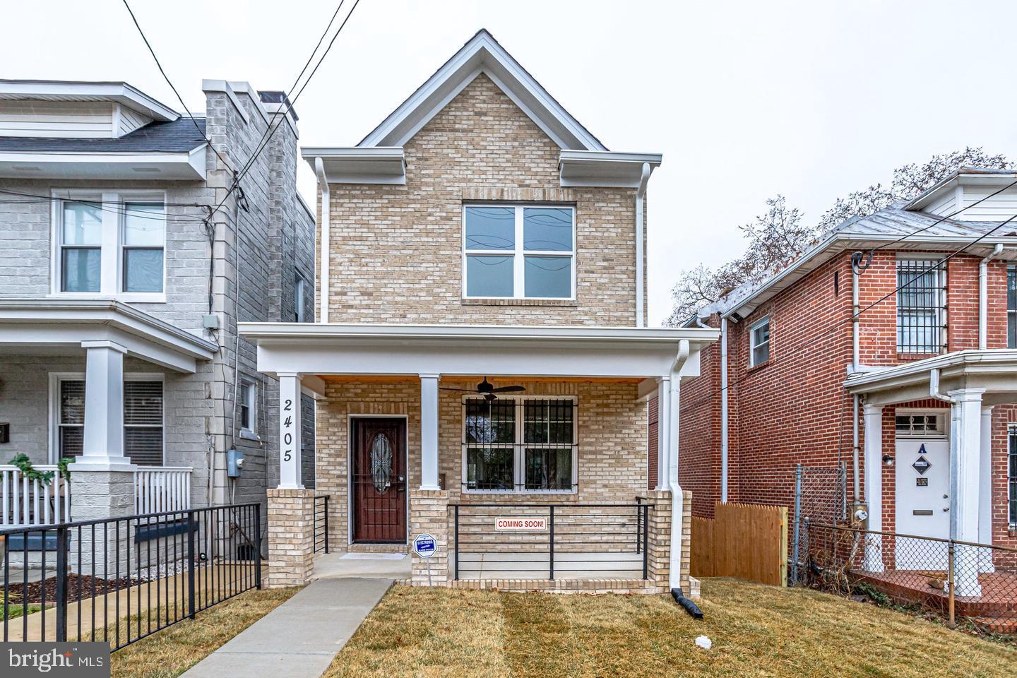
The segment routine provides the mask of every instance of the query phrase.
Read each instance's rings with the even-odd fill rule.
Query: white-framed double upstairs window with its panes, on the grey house
[[[166,208],[161,197],[76,191],[59,197],[63,199],[58,202],[54,230],[56,292],[162,296]]]

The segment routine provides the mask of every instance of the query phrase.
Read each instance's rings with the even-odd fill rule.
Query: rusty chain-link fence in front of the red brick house
[[[806,585],[1017,635],[1017,548],[802,523]]]

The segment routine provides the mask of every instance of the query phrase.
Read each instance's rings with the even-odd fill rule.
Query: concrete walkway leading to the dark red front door
[[[318,579],[183,674],[318,678],[392,579]]]

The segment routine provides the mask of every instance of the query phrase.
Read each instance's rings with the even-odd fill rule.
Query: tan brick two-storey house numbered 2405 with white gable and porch
[[[418,583],[678,587],[669,522],[687,520],[676,469],[647,492],[647,399],[660,390],[675,417],[717,331],[646,327],[660,156],[607,150],[486,30],[360,143],[302,153],[318,318],[241,332],[282,410],[301,387],[319,397],[332,549],[410,551]],[[274,585],[315,567],[299,420],[282,427]]]

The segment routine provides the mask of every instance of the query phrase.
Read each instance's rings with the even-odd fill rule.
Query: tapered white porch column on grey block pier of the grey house
[[[81,342],[85,350],[84,441],[75,466],[129,470],[124,456],[124,354],[109,341]]]

